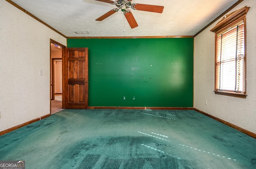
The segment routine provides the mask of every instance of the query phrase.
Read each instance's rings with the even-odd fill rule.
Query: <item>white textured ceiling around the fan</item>
[[[120,10],[103,21],[97,18],[116,8],[96,0],[12,0],[67,37],[193,36],[237,0],[132,0],[164,6],[162,14],[132,10],[138,27],[131,29]],[[125,31],[123,31],[125,29]],[[88,31],[76,34],[75,31]]]

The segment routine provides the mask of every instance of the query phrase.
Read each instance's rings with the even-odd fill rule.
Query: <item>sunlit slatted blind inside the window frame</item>
[[[245,92],[244,22],[217,35],[216,90]]]

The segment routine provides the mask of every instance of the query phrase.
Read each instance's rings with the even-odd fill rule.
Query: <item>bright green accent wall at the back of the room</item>
[[[194,38],[68,39],[67,44],[88,47],[89,106],[193,107]]]

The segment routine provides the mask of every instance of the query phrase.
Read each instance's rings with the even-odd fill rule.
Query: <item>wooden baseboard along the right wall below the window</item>
[[[231,128],[234,128],[234,129],[236,129],[236,130],[238,130],[238,131],[240,131],[240,132],[242,132],[242,133],[244,133],[244,134],[247,134],[248,136],[251,136],[251,137],[253,137],[253,138],[256,138],[256,134],[253,133],[253,132],[250,132],[250,131],[245,130],[245,129],[243,129],[243,128],[240,128],[240,127],[238,127],[238,126],[236,126],[236,125],[234,125],[234,124],[231,124],[231,123],[229,123],[229,122],[226,122],[225,120],[222,120],[222,119],[220,119],[220,118],[217,118],[217,117],[215,117],[215,116],[212,116],[212,115],[210,115],[210,114],[208,114],[208,113],[206,113],[206,112],[203,112],[203,111],[201,111],[201,110],[198,110],[197,108],[194,108],[194,110],[197,111],[197,112],[199,112],[199,113],[201,113],[201,114],[204,114],[204,115],[206,115],[206,116],[208,116],[208,117],[210,117],[210,118],[212,118],[212,119],[214,119],[214,120],[216,120],[216,121],[218,121],[218,122],[221,122],[221,123],[223,123],[223,124],[225,124],[225,125],[227,125],[227,126],[229,126],[229,127],[231,127]]]

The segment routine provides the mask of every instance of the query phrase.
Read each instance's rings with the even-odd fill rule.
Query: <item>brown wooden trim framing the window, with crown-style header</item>
[[[220,22],[216,24],[210,31],[215,33],[215,79],[214,79],[214,92],[215,94],[225,95],[225,96],[233,96],[233,97],[239,97],[239,98],[246,98],[246,14],[250,7],[244,6],[243,8],[240,8],[239,10],[236,10],[235,12],[232,12],[226,17],[222,18]],[[235,25],[236,23],[240,22],[241,20],[244,20],[244,45],[245,45],[245,51],[244,51],[244,68],[245,68],[245,91],[244,93],[238,93],[234,91],[228,91],[228,90],[218,90],[216,86],[217,81],[217,70],[216,70],[216,63],[217,63],[217,38],[218,34],[225,29],[230,28],[231,26]]]

